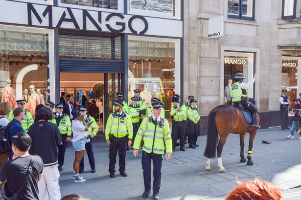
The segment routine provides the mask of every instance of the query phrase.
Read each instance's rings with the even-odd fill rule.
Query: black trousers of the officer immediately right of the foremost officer
[[[186,130],[186,121],[174,121],[172,126],[172,149],[176,148],[178,138],[180,138],[180,149],[185,149],[184,137]]]

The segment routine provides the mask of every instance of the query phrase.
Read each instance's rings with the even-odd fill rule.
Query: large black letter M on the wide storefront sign
[[[28,25],[32,25],[32,16],[31,13],[36,17],[36,19],[39,21],[41,24],[43,22],[42,18],[38,14],[37,10],[33,7],[32,3],[27,3],[27,21]],[[48,14],[48,25],[49,27],[52,27],[52,6],[47,5],[46,9],[43,12],[43,17],[45,18],[46,15]]]

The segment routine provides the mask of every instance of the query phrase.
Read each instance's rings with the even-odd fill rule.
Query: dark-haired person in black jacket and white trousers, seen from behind
[[[38,183],[40,200],[61,199],[57,148],[62,136],[57,125],[49,122],[52,115],[49,108],[40,108],[36,113],[37,122],[28,129],[32,140],[29,153],[40,156],[44,162],[43,177]]]

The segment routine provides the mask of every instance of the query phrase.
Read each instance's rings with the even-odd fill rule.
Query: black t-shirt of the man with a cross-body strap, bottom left
[[[34,157],[32,171],[28,177],[27,184],[19,194],[20,200],[38,200],[39,174],[43,172],[43,160],[39,156]],[[29,166],[30,156],[18,157],[14,160],[6,161],[0,169],[0,181],[5,182],[4,188],[7,197],[12,197],[22,185]]]

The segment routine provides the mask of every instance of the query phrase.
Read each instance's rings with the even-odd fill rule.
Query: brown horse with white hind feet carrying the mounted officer
[[[259,124],[257,116],[256,123]],[[246,162],[244,157],[245,133],[250,133],[248,165],[253,165],[251,160],[253,140],[256,129],[251,128],[251,123],[247,123],[242,112],[232,105],[219,105],[213,108],[208,115],[208,135],[204,156],[207,157],[206,170],[210,170],[210,159],[215,158],[217,149],[217,160],[220,172],[226,172],[222,164],[222,151],[230,133],[240,136],[240,162]],[[219,142],[218,142],[219,136]],[[218,144],[217,144],[218,142]],[[217,146],[216,146],[217,144]]]

